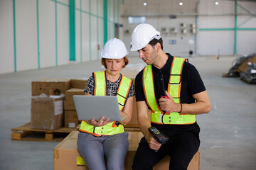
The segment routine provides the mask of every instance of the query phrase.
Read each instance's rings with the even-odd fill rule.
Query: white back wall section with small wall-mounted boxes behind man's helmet
[[[132,30],[138,25],[138,24],[129,24],[128,18],[124,17],[124,43],[127,45],[127,48],[130,49],[130,42],[132,40]],[[178,16],[175,19],[170,19],[169,17],[147,17],[146,23],[151,24],[156,28],[156,30],[159,30],[161,32],[161,28],[167,28],[168,33],[161,32],[161,37],[164,41],[164,52],[169,52],[171,55],[175,56],[188,56],[189,50],[194,50],[194,45],[190,45],[188,43],[189,40],[194,41],[195,35],[190,32],[190,24],[195,23],[195,18],[193,17],[184,17],[184,16]],[[186,24],[186,30],[187,33],[183,34],[181,33],[181,27],[180,24],[185,23]],[[170,32],[171,28],[176,28],[177,33],[173,34]],[[126,33],[126,31],[129,30],[130,33]],[[176,44],[169,44],[169,40],[176,40]],[[138,52],[131,52],[129,51],[129,55],[138,55]]]

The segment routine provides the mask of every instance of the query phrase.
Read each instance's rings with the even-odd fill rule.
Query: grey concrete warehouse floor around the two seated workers
[[[210,113],[197,116],[201,170],[256,169],[256,85],[222,77],[235,58],[189,58],[200,72],[211,101]],[[129,57],[129,61],[143,64],[137,57]],[[53,169],[53,147],[58,142],[11,140],[11,128],[30,122],[31,81],[86,78],[100,68],[100,61],[93,61],[0,74],[0,169]]]

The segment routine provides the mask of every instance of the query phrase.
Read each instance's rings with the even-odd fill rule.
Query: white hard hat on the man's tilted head
[[[139,24],[132,32],[131,51],[137,51],[144,48],[151,40],[161,38],[160,32],[148,23]]]

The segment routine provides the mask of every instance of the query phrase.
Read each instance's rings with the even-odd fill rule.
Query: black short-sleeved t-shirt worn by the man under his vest
[[[154,90],[156,101],[159,104],[159,98],[164,95],[164,89],[161,84],[160,78],[164,77],[164,87],[167,90],[169,84],[169,77],[171,71],[171,63],[174,59],[169,53],[166,53],[169,56],[166,64],[162,69],[154,67],[152,64],[152,70],[154,75]],[[144,89],[142,84],[143,70],[137,74],[135,79],[135,91],[136,91],[136,101],[146,101],[144,96]],[[184,62],[183,70],[181,74],[181,103],[194,103],[195,99],[193,94],[198,94],[202,91],[206,91],[206,87],[203,84],[203,81],[196,69],[192,64]],[[152,126],[156,128],[164,128],[170,130],[189,130],[191,132],[196,132],[199,134],[200,128],[197,123],[191,125],[159,125],[151,123]]]

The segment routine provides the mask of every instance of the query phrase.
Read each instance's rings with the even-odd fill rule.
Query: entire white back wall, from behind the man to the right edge
[[[235,1],[219,1],[218,6],[215,6],[212,0],[198,2],[198,5],[194,6],[194,11],[185,15],[179,13],[176,19],[170,19],[168,15],[146,17],[146,23],[153,25],[156,30],[160,31],[163,27],[177,29],[177,34],[161,33],[165,52],[184,57],[188,56],[189,50],[193,50],[197,55],[245,55],[256,52],[256,18],[252,16],[256,13],[255,2],[238,1],[236,39]],[[125,3],[127,6],[131,5],[129,1],[125,1]],[[125,3],[122,6],[123,11],[128,10]],[[195,13],[198,15],[196,16]],[[132,30],[138,24],[129,24],[127,15],[124,15],[122,19],[124,22],[123,39],[127,48],[130,48]],[[186,23],[186,34],[181,33],[180,23]],[[189,31],[191,23],[196,24],[196,35]],[[242,28],[254,30],[241,30]],[[127,30],[130,33],[127,33]],[[176,45],[170,45],[169,40],[176,40]],[[189,40],[193,40],[194,44],[190,45]],[[129,52],[129,55],[137,56],[138,54],[137,52]]]

